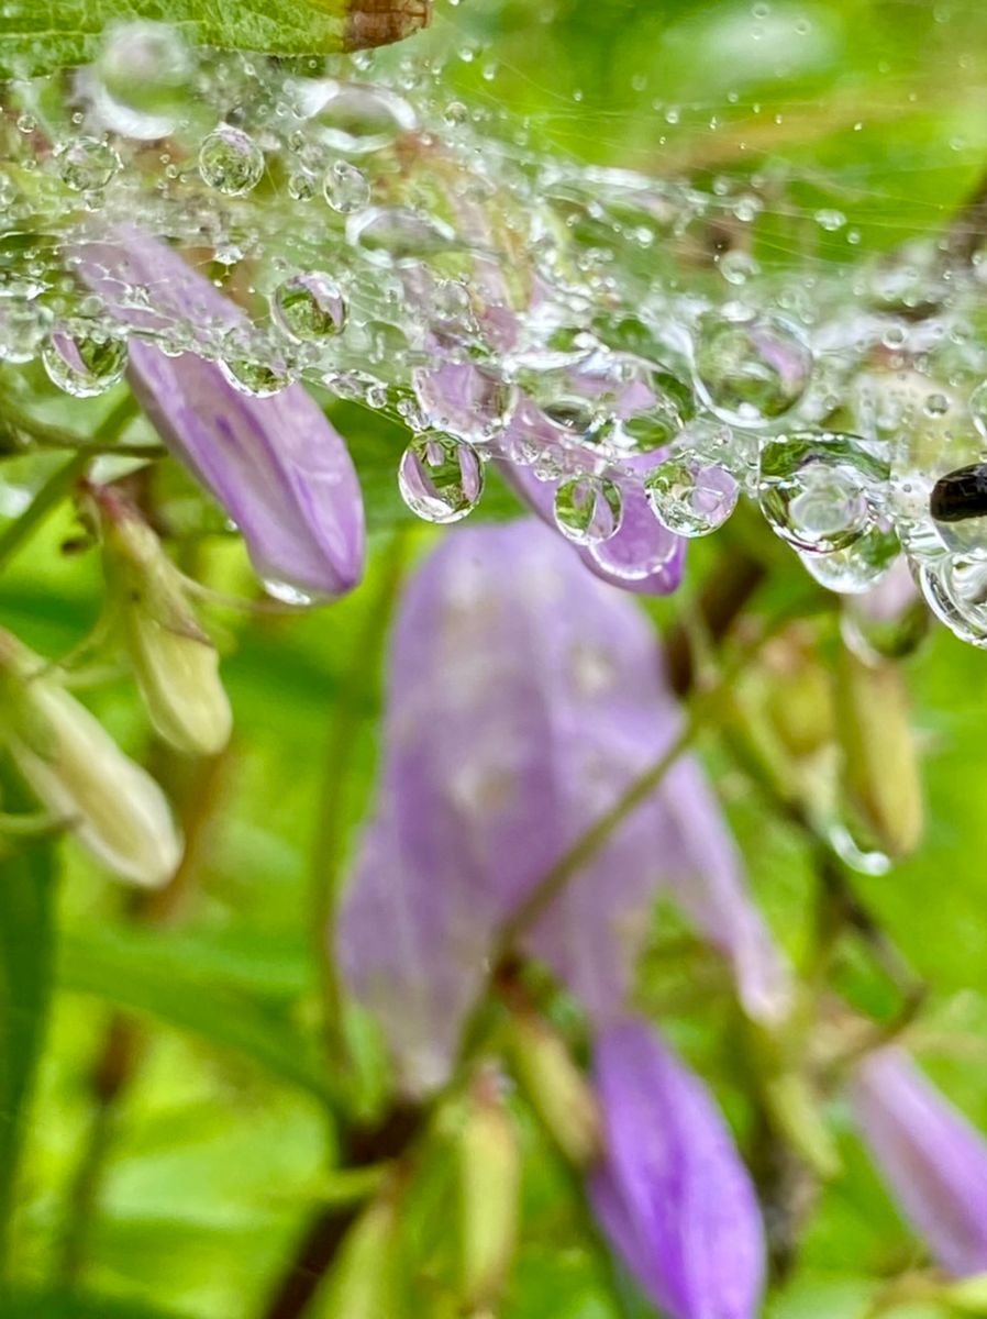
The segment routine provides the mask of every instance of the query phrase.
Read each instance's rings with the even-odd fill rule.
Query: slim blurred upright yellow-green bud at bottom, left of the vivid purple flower
[[[483,1074],[459,1132],[459,1221],[463,1310],[500,1294],[517,1240],[521,1162],[513,1124],[495,1074]]]

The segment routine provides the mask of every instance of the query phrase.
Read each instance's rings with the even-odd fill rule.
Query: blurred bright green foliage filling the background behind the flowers
[[[55,20],[63,13],[50,8]],[[4,28],[0,50],[8,40]],[[658,177],[689,173],[702,186],[776,171],[784,200],[759,231],[765,265],[797,262],[793,216],[834,199],[847,224],[838,233],[821,230],[813,253],[834,262],[934,232],[987,169],[987,8],[979,0],[462,0],[439,3],[431,32],[377,58],[462,47],[479,49],[454,58],[446,73],[459,94],[505,106],[530,141],[552,150]],[[63,47],[53,50],[61,58]],[[236,716],[222,761],[182,762],[156,745],[125,673],[86,691],[113,735],[166,785],[195,838],[181,901],[166,913],[135,902],[70,843],[57,848],[54,897],[44,843],[18,843],[0,857],[0,1225],[21,1146],[11,1224],[16,1286],[3,1312],[18,1319],[251,1319],[307,1215],[366,1194],[359,1175],[340,1167],[334,1134],[334,1082],[318,1030],[313,855],[326,782],[340,768],[330,756],[340,712],[350,752],[336,842],[343,872],[372,795],[380,637],[371,624],[387,590],[392,538],[404,529],[410,562],[435,533],[412,528],[397,499],[401,434],[354,405],[335,405],[333,415],[367,495],[368,579],[352,599],[311,615],[218,612]],[[79,415],[66,421],[79,425]],[[0,491],[16,492],[37,475],[36,460],[5,458]],[[170,479],[175,500],[198,506],[182,479]],[[495,491],[476,516],[513,510],[511,496]],[[96,555],[62,549],[77,532],[71,512],[59,510],[0,579],[0,621],[48,656],[67,653],[99,613]],[[740,550],[769,572],[755,612],[806,594],[794,557],[779,555],[756,520],[739,517],[691,553],[680,598],[648,605],[656,636],[687,615],[703,580]],[[190,537],[179,554],[218,588],[253,595],[230,538]],[[924,1063],[987,1129],[984,658],[937,632],[907,673],[925,836],[889,874],[858,878],[856,892],[928,988],[914,1037]],[[759,901],[805,964],[814,939],[814,849],[739,773],[716,729],[703,753]],[[5,809],[12,805],[5,798]],[[674,917],[662,914],[640,997],[711,1083],[749,1151],[756,1133],[736,1017],[715,967],[711,981],[697,975],[710,966],[694,946],[684,951]],[[851,938],[838,946],[831,975],[879,1020],[899,1006],[900,991]],[[129,1083],[100,1108],[94,1067],[108,1033],[121,1030]],[[380,1063],[366,1024],[354,1030],[372,1108]],[[515,1107],[524,1217],[504,1319],[649,1314],[625,1281],[615,1283],[556,1155],[524,1104]],[[863,1316],[884,1279],[924,1258],[839,1095],[825,1100],[825,1117],[842,1170],[822,1190],[794,1268],[769,1298],[776,1319]],[[80,1159],[94,1146],[103,1169],[96,1211],[78,1221]],[[405,1211],[416,1315],[450,1314],[442,1279],[455,1221],[447,1192],[439,1141]],[[66,1273],[77,1291],[49,1290]],[[930,1310],[899,1312],[920,1319]]]

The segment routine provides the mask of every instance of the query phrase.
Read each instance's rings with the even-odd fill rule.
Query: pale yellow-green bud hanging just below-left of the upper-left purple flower
[[[177,751],[214,756],[232,714],[219,656],[189,607],[181,572],[137,510],[94,491],[107,583],[119,601],[133,670],[154,729]]]

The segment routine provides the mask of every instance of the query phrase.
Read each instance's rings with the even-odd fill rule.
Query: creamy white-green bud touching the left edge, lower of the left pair
[[[165,884],[182,845],[164,793],[9,633],[0,633],[0,700],[15,764],[51,814],[121,878]]]

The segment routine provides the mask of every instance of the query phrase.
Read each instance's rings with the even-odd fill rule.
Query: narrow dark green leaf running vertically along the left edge
[[[53,877],[48,847],[0,859],[0,1274],[16,1203],[25,1105],[48,1013]]]

